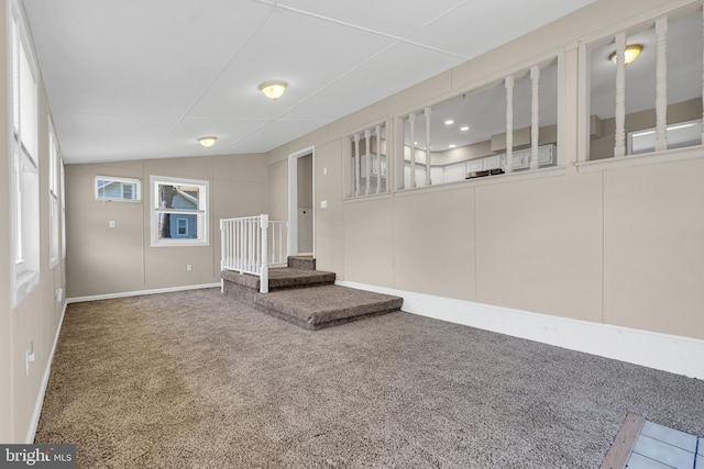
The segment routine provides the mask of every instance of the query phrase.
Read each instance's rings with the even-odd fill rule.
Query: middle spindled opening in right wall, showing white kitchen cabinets
[[[507,105],[509,100],[510,108]],[[554,166],[558,135],[557,59],[519,70],[432,108],[403,116],[399,120],[403,132],[403,145],[399,145],[403,147],[399,150],[403,165],[399,170],[403,168],[404,178],[397,181],[397,189],[508,172],[506,161],[509,153],[510,171],[531,169],[534,111],[537,111],[535,168]],[[509,122],[513,145],[507,148]]]

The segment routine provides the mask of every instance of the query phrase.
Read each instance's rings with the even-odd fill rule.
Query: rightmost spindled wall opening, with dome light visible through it
[[[702,10],[695,7],[672,12],[624,30],[625,44],[640,44],[638,58],[624,68],[625,75],[625,155],[654,153],[658,90],[658,34],[656,23],[666,26],[661,34],[667,71],[667,149],[701,145],[701,133],[682,131],[682,125],[701,126],[702,120]],[[617,66],[609,59],[616,51],[612,34],[586,45],[588,67],[587,160],[613,158],[617,153]],[[635,141],[634,141],[635,138]],[[652,142],[650,142],[652,141]]]

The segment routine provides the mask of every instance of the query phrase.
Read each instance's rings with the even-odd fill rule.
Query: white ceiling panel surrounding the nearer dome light
[[[275,118],[392,44],[387,37],[275,10],[189,116]],[[274,79],[289,85],[276,102],[257,90]],[[344,99],[353,98],[338,97]]]

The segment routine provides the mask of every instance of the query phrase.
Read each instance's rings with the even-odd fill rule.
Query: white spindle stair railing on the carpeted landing
[[[267,214],[220,220],[220,268],[260,278],[260,292],[268,292],[268,268],[286,264],[288,222]]]

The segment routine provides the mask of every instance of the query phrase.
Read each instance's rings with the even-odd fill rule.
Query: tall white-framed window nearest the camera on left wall
[[[40,282],[38,67],[21,3],[8,3],[10,16],[11,290],[16,306]],[[29,76],[29,77],[28,77]],[[29,88],[29,89],[28,89]],[[29,101],[29,104],[26,103]]]

